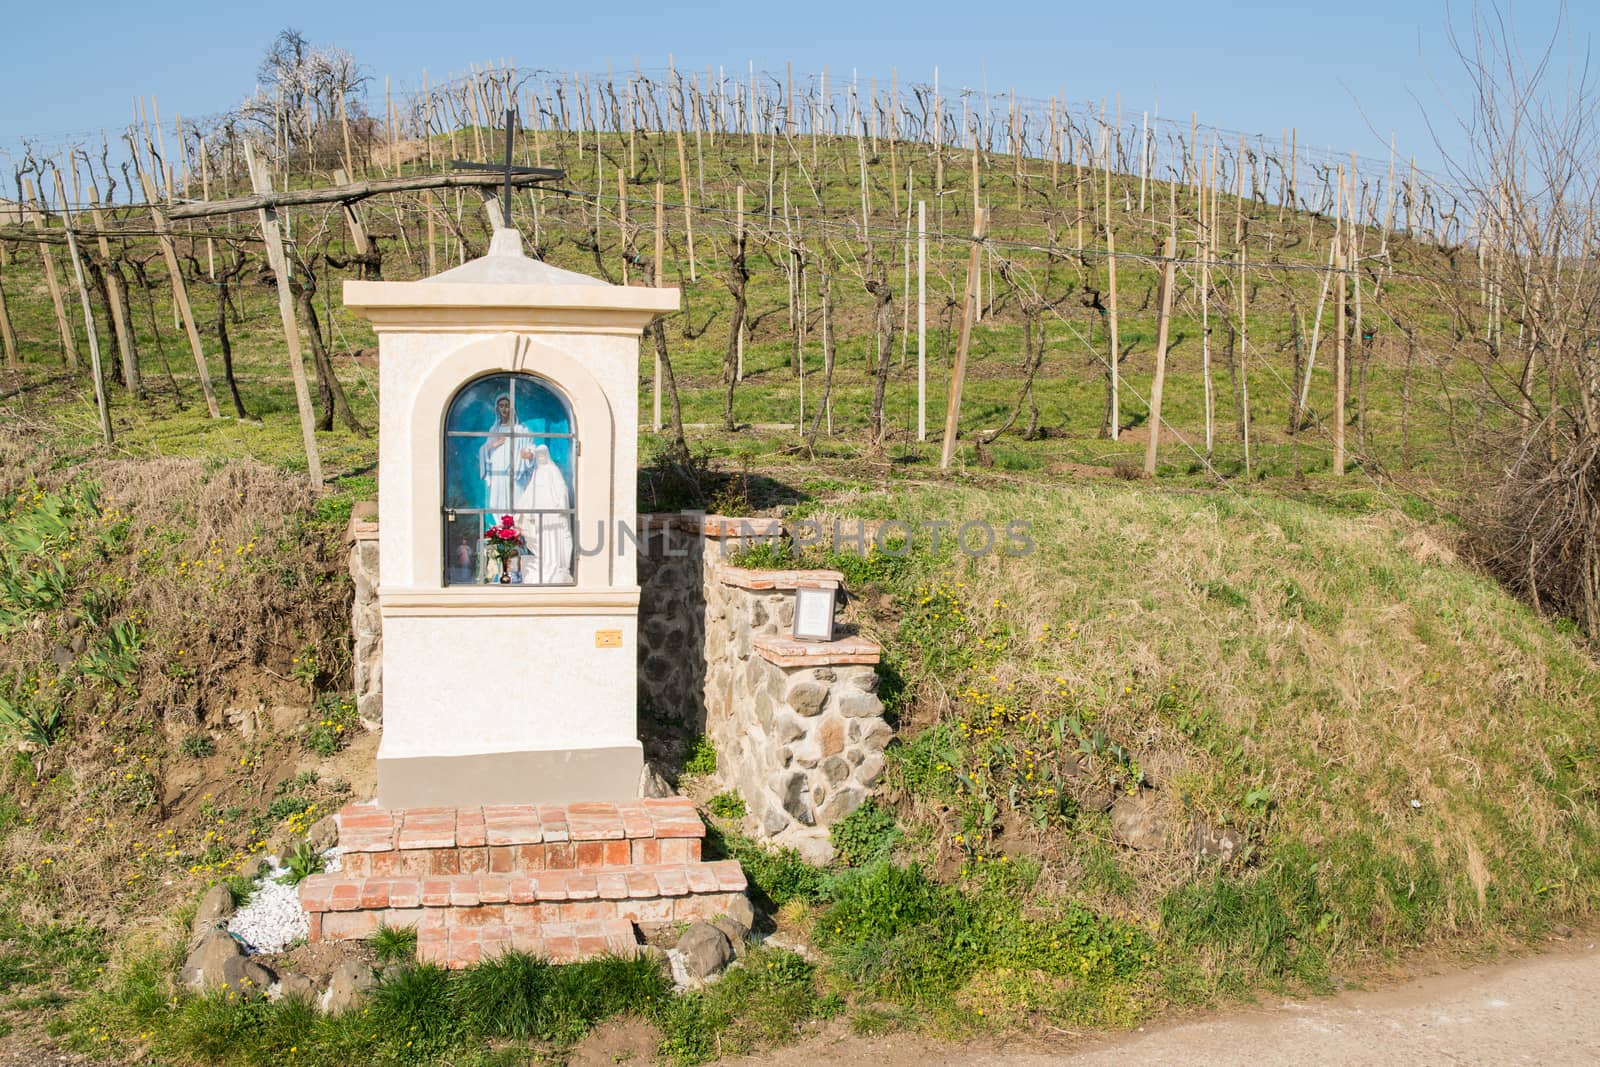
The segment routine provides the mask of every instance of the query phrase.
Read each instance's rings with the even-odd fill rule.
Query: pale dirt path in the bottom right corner
[[[1126,1064],[1592,1064],[1600,1061],[1600,947],[1454,971],[1326,1000],[1264,1000],[1104,1040],[928,1045],[813,1038],[741,1064],[808,1067],[1126,1067]]]

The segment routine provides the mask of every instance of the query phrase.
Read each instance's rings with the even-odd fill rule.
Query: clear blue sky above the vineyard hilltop
[[[1525,46],[1549,38],[1558,5],[1504,5]],[[1570,13],[1571,46],[1582,58],[1600,27],[1600,5]],[[1163,117],[1198,112],[1202,123],[1277,138],[1298,126],[1310,147],[1387,155],[1394,131],[1402,157],[1437,162],[1424,109],[1454,144],[1448,109],[1466,104],[1466,83],[1445,27],[1466,24],[1470,6],[1442,0],[1200,5],[1171,0],[1075,3],[838,3],[685,5],[536,3],[450,5],[323,0],[275,5],[8,3],[0,26],[13,43],[0,93],[0,149],[22,138],[53,146],[85,131],[115,133],[131,99],[154,94],[163,120],[224,110],[254,85],[261,53],[285,27],[314,43],[336,43],[395,85],[512,59],[525,67],[603,70],[725,66],[835,77],[859,70],[990,93],[1115,99],[1123,112]],[[26,46],[18,46],[26,43]],[[1565,48],[1565,43],[1563,43]],[[64,66],[70,62],[70,67]],[[1440,120],[1445,118],[1442,123]]]

